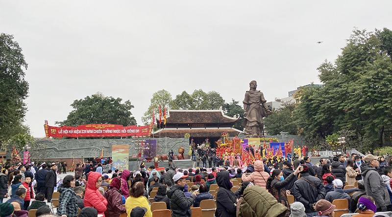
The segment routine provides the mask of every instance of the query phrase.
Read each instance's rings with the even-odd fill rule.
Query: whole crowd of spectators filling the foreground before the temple
[[[190,217],[191,206],[205,199],[216,200],[217,217],[334,217],[335,199],[347,199],[350,212],[361,212],[357,217],[392,211],[392,165],[384,156],[340,154],[321,158],[318,164],[307,156],[273,161],[181,169],[170,159],[160,171],[144,164],[138,171],[103,171],[100,163],[86,162],[77,164],[61,184],[55,162],[5,166],[0,174],[0,217],[27,217],[30,209],[37,209],[36,216],[152,217],[149,199],[165,202],[172,217]],[[241,182],[233,192],[236,178]],[[212,192],[216,195],[210,193],[214,184],[219,187]],[[358,187],[344,189],[345,185]],[[60,196],[53,214],[45,200],[51,201],[55,188]],[[156,195],[150,198],[154,188]],[[294,203],[289,203],[289,195]],[[4,198],[8,199],[3,202]]]

